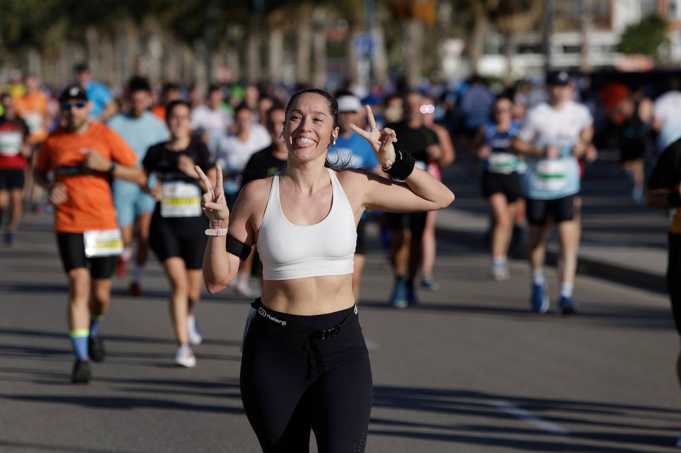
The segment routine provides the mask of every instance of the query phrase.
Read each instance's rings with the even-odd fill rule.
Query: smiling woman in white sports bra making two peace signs
[[[243,345],[241,395],[264,452],[364,452],[373,395],[371,369],[352,292],[356,226],[364,209],[442,209],[454,194],[396,151],[391,129],[354,125],[393,182],[366,171],[336,171],[326,152],[338,136],[338,103],[323,90],[295,93],[286,107],[287,167],[250,182],[230,213],[221,178],[201,169],[210,219],[204,280],[211,293],[229,285],[257,244],[262,297]],[[217,168],[217,175],[222,171]],[[229,227],[229,234],[227,234]]]

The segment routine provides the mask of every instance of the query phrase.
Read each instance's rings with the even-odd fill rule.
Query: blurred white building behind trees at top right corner
[[[553,33],[550,34],[550,67],[583,71],[618,68],[624,71],[652,69],[652,58],[618,52],[622,33],[658,13],[669,20],[669,45],[661,51],[661,64],[681,62],[681,0],[553,0]],[[516,35],[512,57],[513,78],[539,76],[545,67],[542,25],[540,30]],[[488,33],[486,53],[479,61],[484,75],[507,75],[505,36]]]

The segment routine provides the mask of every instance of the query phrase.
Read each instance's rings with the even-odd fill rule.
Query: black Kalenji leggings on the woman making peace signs
[[[268,312],[280,321],[326,330],[354,309],[319,316]],[[244,339],[241,399],[264,453],[362,453],[373,398],[369,355],[358,320],[318,340],[320,375],[308,335],[256,315]]]

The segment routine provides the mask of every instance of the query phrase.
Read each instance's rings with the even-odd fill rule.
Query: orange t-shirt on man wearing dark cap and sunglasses
[[[57,205],[54,214],[57,233],[118,228],[106,174],[84,173],[81,169],[87,150],[95,150],[104,158],[126,167],[137,162],[133,150],[104,124],[91,123],[83,134],[69,133],[62,127],[54,131],[40,146],[35,168],[54,170],[57,182],[66,186],[69,198]]]

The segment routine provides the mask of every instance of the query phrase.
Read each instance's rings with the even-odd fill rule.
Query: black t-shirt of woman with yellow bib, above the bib
[[[151,146],[146,151],[142,167],[149,173],[155,172],[161,182],[185,181],[198,184],[199,180],[178,169],[177,161],[180,154],[184,154],[206,173],[213,165],[206,145],[201,140],[192,139],[184,150],[173,151],[165,147],[167,144],[166,141]]]

